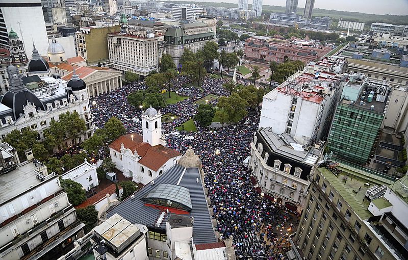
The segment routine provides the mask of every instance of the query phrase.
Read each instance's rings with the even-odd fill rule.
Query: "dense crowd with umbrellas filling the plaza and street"
[[[205,185],[211,199],[217,231],[222,238],[233,237],[239,259],[282,259],[288,248],[288,233],[295,228],[298,216],[256,193],[250,181],[250,170],[243,164],[250,152],[249,143],[259,124],[259,112],[250,111],[241,122],[216,131],[202,129],[181,132],[176,138],[169,135],[175,126],[191,119],[196,113],[194,102],[209,94],[228,95],[223,80],[207,77],[202,90],[191,87],[188,79],[174,81],[173,91],[190,98],[162,109],[179,118],[162,122],[167,146],[184,153],[191,146],[202,161],[206,173]],[[126,96],[144,89],[142,83],[126,85],[122,89],[94,98],[94,123],[101,127],[112,116],[118,117],[130,133],[141,133],[141,110],[129,105]],[[185,139],[193,136],[194,139]],[[219,152],[216,152],[219,151]],[[285,257],[286,258],[286,257]]]

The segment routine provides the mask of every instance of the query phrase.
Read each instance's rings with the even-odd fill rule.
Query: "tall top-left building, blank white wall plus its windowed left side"
[[[28,19],[29,17],[29,19]],[[0,6],[0,45],[7,46],[8,32],[16,32],[31,58],[33,42],[46,53],[48,38],[40,0],[5,0]]]

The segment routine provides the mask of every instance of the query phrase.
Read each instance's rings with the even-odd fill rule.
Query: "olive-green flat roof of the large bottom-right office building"
[[[343,171],[336,176],[333,172],[324,167],[317,169],[329,182],[330,186],[336,190],[355,214],[357,214],[362,220],[373,216],[371,212],[367,210],[370,202],[364,198],[366,191],[369,188],[369,186],[366,186],[365,184],[368,183],[372,186],[375,184],[373,179],[367,177],[367,179],[363,180],[355,176],[350,179],[350,177]]]

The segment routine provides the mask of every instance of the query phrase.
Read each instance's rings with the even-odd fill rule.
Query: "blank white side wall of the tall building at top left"
[[[7,3],[41,3],[40,0],[8,0]],[[45,31],[42,7],[2,7],[3,17],[6,22],[7,32],[13,28],[20,40],[24,43],[25,53],[31,59],[33,41],[40,55],[47,54],[48,38]]]

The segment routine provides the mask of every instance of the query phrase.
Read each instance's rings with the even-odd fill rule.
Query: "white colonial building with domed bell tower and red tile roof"
[[[181,154],[166,147],[162,139],[162,115],[148,108],[142,115],[143,136],[127,134],[109,145],[112,162],[125,177],[148,184],[180,159]]]

